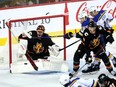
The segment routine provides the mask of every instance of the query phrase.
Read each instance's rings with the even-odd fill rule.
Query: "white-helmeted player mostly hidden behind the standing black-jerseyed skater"
[[[84,30],[88,27],[89,22],[92,21],[92,19],[90,19],[87,15],[87,12],[84,12],[84,11],[78,15],[78,18],[79,18],[80,23],[81,23],[80,33],[83,33]],[[81,44],[79,46],[81,46]],[[109,54],[107,54],[107,56],[109,57]],[[100,69],[100,59],[98,57],[95,57],[95,60],[93,63],[91,63],[92,62],[91,55],[86,55],[85,60],[87,63],[87,67],[89,67],[89,68],[82,70],[83,73],[98,71]]]

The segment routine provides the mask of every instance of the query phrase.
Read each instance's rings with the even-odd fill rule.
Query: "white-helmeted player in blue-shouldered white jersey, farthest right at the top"
[[[104,28],[112,28],[110,22],[113,20],[113,16],[105,10],[98,11],[95,6],[89,8],[89,13],[93,17],[93,20]]]

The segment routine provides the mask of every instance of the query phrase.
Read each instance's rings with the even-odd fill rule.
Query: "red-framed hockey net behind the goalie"
[[[7,63],[9,65],[9,68],[11,68],[12,64],[18,64],[18,62],[21,61],[27,61],[25,57],[17,57],[18,36],[23,33],[23,30],[26,30],[27,32],[36,30],[37,26],[40,24],[45,26],[45,33],[53,36],[52,40],[56,45],[58,45],[60,48],[64,48],[66,46],[65,39],[63,37],[59,37],[66,33],[65,15],[52,15],[9,20],[7,22],[9,29],[7,46],[8,51],[7,56],[4,55],[4,57],[6,56],[8,58],[3,58],[2,65],[4,65],[4,63]],[[62,58],[62,60],[66,60],[66,49],[60,51],[58,57]]]

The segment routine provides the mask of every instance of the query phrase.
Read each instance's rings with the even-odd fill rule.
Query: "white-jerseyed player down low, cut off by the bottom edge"
[[[100,87],[98,82],[94,79],[72,78],[69,75],[62,75],[59,82],[64,87]]]

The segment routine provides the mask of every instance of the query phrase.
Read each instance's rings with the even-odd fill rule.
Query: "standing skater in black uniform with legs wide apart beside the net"
[[[112,34],[112,32],[107,32],[102,29],[102,27],[99,27],[94,23],[93,21],[89,22],[88,28],[85,29],[83,34],[76,33],[73,34],[71,32],[64,35],[65,38],[70,39],[73,36],[76,36],[76,38],[81,38],[83,41],[83,46],[77,49],[77,51],[74,54],[74,63],[73,63],[73,70],[74,73],[76,73],[79,69],[80,64],[80,58],[83,57],[83,55],[86,53],[90,53],[92,51],[96,57],[99,57],[104,62],[107,70],[114,76],[116,76],[116,72],[113,71],[112,65],[105,53],[105,50],[103,48],[102,42],[101,42],[101,35],[102,34]]]

